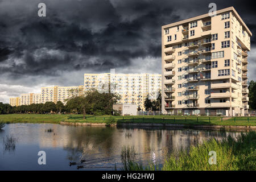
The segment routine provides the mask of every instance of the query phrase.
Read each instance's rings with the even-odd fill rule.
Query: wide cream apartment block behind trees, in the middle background
[[[152,99],[158,96],[162,86],[161,77],[160,74],[150,73],[85,73],[84,90],[86,92],[90,89],[96,89],[104,92],[104,89],[108,91],[108,85],[113,85],[113,92],[121,96],[119,104],[136,104],[137,107],[144,110],[144,101],[147,96],[150,96]]]

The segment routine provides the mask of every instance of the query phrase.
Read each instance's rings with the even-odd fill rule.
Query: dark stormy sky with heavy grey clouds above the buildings
[[[248,75],[256,80],[250,1],[0,0],[0,102],[41,86],[83,85],[84,73],[161,73],[161,26],[208,13],[210,2],[233,6],[253,33]]]

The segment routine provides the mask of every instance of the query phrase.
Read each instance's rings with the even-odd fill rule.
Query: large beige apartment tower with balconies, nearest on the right
[[[162,26],[162,111],[248,113],[250,30],[233,7]]]

